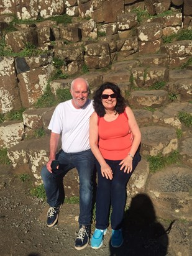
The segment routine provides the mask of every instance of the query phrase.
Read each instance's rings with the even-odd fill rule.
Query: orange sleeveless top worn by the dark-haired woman
[[[122,160],[130,151],[132,142],[127,114],[119,114],[116,120],[107,122],[98,117],[99,150],[105,159]]]

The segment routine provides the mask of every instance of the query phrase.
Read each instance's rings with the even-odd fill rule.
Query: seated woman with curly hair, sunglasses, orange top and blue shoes
[[[96,229],[91,247],[98,249],[106,234],[110,205],[112,247],[123,243],[122,219],[126,205],[126,185],[140,161],[141,134],[134,113],[127,107],[119,87],[104,83],[94,95],[89,142],[96,157]]]

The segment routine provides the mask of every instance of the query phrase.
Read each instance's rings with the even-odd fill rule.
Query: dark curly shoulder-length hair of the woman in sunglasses
[[[102,99],[101,99],[101,95],[103,94],[103,91],[105,89],[111,89],[116,94],[117,104],[115,106],[115,110],[118,114],[123,113],[126,108],[125,99],[121,95],[121,90],[119,89],[119,86],[110,82],[103,83],[103,85],[99,86],[99,88],[95,91],[94,97],[93,97],[94,111],[100,117],[103,117],[106,114],[106,111],[104,109],[104,106],[102,104]]]

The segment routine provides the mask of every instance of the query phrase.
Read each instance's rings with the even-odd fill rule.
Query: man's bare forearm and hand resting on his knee
[[[51,163],[55,160],[55,155],[57,153],[58,148],[58,140],[60,138],[60,134],[55,134],[55,132],[51,132],[50,142],[49,142],[49,160],[47,162],[47,170],[52,173]]]

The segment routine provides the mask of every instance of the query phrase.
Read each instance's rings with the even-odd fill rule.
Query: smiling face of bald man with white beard
[[[88,86],[84,80],[76,80],[73,88],[70,89],[71,96],[73,97],[72,103],[76,109],[82,108],[88,100],[89,91]]]

